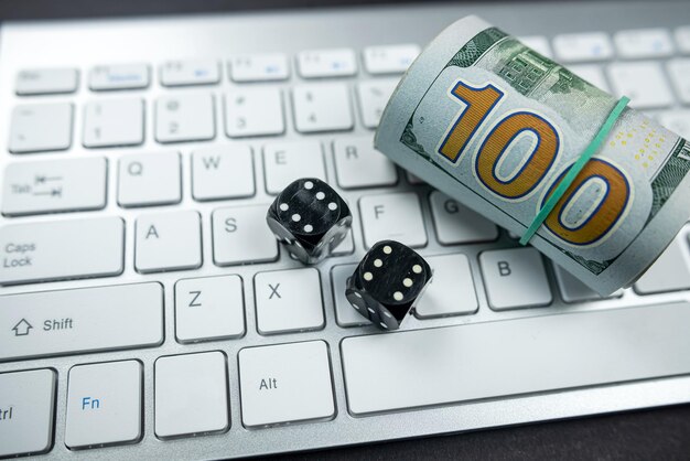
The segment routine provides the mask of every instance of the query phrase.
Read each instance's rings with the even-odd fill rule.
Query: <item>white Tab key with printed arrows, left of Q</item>
[[[100,210],[106,206],[106,169],[103,157],[10,163],[2,214]]]

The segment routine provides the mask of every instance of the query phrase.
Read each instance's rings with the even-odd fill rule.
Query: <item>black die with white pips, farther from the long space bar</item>
[[[278,195],[268,208],[266,221],[293,257],[304,264],[316,264],[343,242],[353,216],[328,184],[303,178]]]

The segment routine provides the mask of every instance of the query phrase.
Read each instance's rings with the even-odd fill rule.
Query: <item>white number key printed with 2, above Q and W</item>
[[[180,94],[155,100],[158,142],[206,141],[215,137],[213,95]]]

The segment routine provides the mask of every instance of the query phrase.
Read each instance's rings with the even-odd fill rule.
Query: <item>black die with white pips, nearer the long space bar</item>
[[[395,240],[382,240],[364,256],[347,279],[345,296],[371,323],[397,330],[431,281],[429,264]]]

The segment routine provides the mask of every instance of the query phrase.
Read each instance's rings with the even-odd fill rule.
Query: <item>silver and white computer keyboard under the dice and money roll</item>
[[[601,298],[371,148],[402,72],[479,14],[690,137],[683,1],[376,7],[0,28],[0,457],[224,459],[690,401],[690,228]],[[304,267],[297,178],[353,210]],[[374,243],[434,280],[344,296]]]

